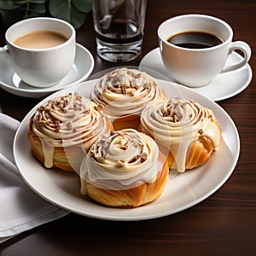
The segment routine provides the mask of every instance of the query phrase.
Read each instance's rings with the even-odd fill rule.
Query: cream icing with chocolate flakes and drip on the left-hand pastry
[[[87,151],[107,125],[102,106],[70,93],[40,106],[34,114],[32,130],[41,139],[44,166],[50,168],[55,148],[76,145]]]

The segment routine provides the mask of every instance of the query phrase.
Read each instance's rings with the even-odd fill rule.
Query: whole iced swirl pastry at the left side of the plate
[[[113,130],[102,106],[70,93],[40,106],[30,119],[32,154],[47,168],[79,171],[85,152],[96,137]]]

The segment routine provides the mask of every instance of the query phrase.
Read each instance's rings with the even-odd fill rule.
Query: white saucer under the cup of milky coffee
[[[20,77],[10,66],[7,57],[5,55],[0,55],[0,86],[3,90],[17,96],[42,98],[56,90],[70,87],[73,84],[77,84],[84,79],[87,79],[94,68],[94,64],[95,62],[90,51],[84,48],[84,46],[77,44],[73,67],[70,72],[67,73],[67,76],[55,86],[49,88],[36,88],[21,81]]]

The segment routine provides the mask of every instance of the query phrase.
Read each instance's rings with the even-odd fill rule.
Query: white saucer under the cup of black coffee
[[[233,52],[227,61],[227,64],[236,63],[241,60],[241,55]],[[156,48],[151,50],[147,55],[143,57],[140,62],[140,67],[146,67],[157,71],[166,77],[166,79],[176,82],[175,79],[168,73],[166,67],[160,57],[160,49]],[[150,73],[150,71],[147,70]],[[152,74],[154,75],[154,73]],[[252,69],[247,64],[245,67],[230,72],[219,74],[217,78],[213,79],[210,84],[199,88],[192,88],[203,96],[207,96],[212,101],[218,102],[232,96],[236,96],[242,90],[245,90],[250,84],[253,77]]]

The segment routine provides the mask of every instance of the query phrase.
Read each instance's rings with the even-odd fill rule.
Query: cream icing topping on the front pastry
[[[82,161],[80,177],[112,190],[154,183],[160,170],[158,156],[158,146],[151,137],[133,129],[111,131],[91,146]]]

